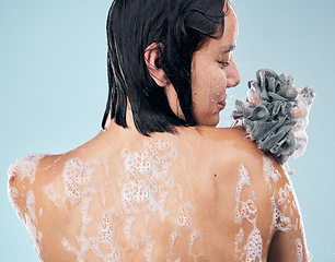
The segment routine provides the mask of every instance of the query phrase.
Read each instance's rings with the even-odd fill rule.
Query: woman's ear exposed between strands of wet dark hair
[[[145,51],[145,61],[151,78],[159,86],[164,87],[170,84],[161,66],[161,51],[155,43],[147,47]]]

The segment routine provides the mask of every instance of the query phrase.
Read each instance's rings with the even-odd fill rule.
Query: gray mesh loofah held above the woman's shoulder
[[[310,106],[315,96],[314,91],[305,87],[301,94]],[[297,97],[292,76],[277,75],[268,69],[258,70],[256,80],[249,82],[247,102],[236,100],[236,110],[232,115],[245,127],[258,147],[270,152],[280,164],[286,163],[296,151],[292,129],[297,123]]]

